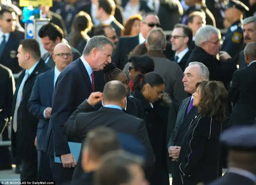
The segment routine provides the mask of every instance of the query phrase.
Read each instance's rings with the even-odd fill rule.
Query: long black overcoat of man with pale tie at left
[[[36,138],[36,130],[38,124],[38,118],[31,114],[28,110],[28,99],[30,98],[34,83],[36,81],[37,75],[44,73],[49,70],[50,67],[44,63],[44,60],[40,60],[26,80],[23,92],[22,100],[20,102],[20,107],[18,108],[18,117],[17,117],[17,132],[14,133],[12,129],[12,151],[13,155],[16,157],[21,157],[21,159],[31,160],[37,156],[36,147],[34,146],[34,141]],[[17,93],[20,87],[20,83],[25,75],[25,70],[20,74],[17,83],[16,91],[14,93],[13,101],[13,110],[12,116],[14,114]],[[16,150],[18,147],[18,150]],[[19,153],[15,153],[19,151]]]

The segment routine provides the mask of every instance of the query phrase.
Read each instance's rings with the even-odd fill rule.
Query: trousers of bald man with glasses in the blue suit
[[[37,151],[37,181],[52,181],[49,156],[42,150]]]

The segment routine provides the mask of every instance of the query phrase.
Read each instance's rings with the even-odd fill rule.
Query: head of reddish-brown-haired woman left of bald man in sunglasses
[[[134,15],[126,20],[124,25],[124,36],[135,36],[140,33],[141,15]]]

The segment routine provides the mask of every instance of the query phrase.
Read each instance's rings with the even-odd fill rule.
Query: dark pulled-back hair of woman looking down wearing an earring
[[[133,90],[142,91],[144,85],[149,84],[151,87],[163,85],[164,79],[156,72],[150,72],[146,75],[138,74],[133,80]]]

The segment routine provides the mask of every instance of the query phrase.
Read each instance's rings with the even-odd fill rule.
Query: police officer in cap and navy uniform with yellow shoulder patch
[[[224,25],[228,32],[223,37],[222,51],[226,51],[233,59],[236,59],[244,46],[242,18],[249,8],[238,0],[229,0],[225,11]]]

